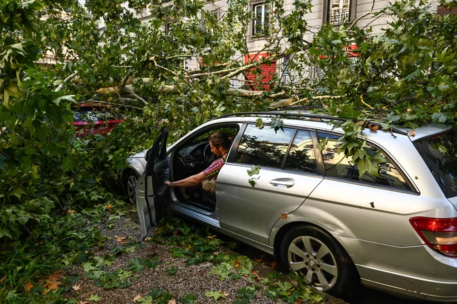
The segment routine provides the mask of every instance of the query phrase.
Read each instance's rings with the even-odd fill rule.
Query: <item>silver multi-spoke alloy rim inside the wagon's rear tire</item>
[[[337,283],[338,267],[334,256],[320,240],[301,236],[289,245],[289,267],[303,275],[310,285],[323,292]]]

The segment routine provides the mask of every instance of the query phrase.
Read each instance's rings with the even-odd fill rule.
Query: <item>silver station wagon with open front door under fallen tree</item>
[[[268,125],[278,116],[283,130],[275,132]],[[145,156],[128,159],[127,172],[139,175],[138,181],[129,177],[135,177],[142,237],[169,208],[274,254],[284,269],[336,296],[361,282],[397,296],[457,302],[457,141],[451,127],[428,125],[414,136],[405,128],[365,129],[362,139],[386,162],[379,176],[359,177],[351,158],[337,153],[343,131],[332,129],[331,121],[338,119],[299,111],[231,114],[168,148],[163,128]],[[216,194],[188,197],[165,186],[212,163],[208,136],[215,131],[233,136]],[[260,172],[250,176],[253,165]]]

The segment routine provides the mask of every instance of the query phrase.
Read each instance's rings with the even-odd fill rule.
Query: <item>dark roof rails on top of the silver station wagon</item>
[[[299,109],[296,109],[299,108]],[[308,107],[289,107],[283,110],[305,110],[305,108]],[[310,107],[308,109],[316,109],[320,107]],[[254,117],[271,117],[271,116],[282,116],[285,118],[309,118],[309,120],[312,121],[324,121],[324,120],[339,120],[339,121],[347,121],[349,120],[348,118],[341,118],[338,116],[332,116],[332,115],[324,115],[324,114],[313,114],[313,113],[287,113],[283,111],[260,111],[260,112],[238,112],[238,113],[231,113],[231,114],[224,114],[222,116],[219,116],[215,119],[219,118],[227,118],[227,117],[237,117],[237,116],[254,116]],[[382,127],[381,123],[376,123],[373,121],[368,121],[367,124],[371,125],[378,125],[379,127]],[[391,127],[391,132],[395,132],[397,134],[402,134],[402,135],[407,135],[406,132],[402,131],[401,129],[397,129],[395,127]]]

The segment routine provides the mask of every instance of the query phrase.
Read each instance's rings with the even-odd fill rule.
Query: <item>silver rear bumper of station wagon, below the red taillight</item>
[[[409,298],[457,302],[457,258],[427,245],[395,247],[335,236],[367,287]]]

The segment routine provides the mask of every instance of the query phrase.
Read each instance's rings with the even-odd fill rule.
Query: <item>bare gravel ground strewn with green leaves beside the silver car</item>
[[[113,221],[110,223],[113,223]],[[134,258],[150,259],[158,257],[161,262],[155,269],[145,267],[141,271],[134,272],[133,276],[127,279],[132,284],[130,287],[112,289],[99,287],[93,280],[86,278],[86,273],[81,266],[73,266],[71,269],[67,269],[67,274],[81,277],[73,285],[73,287],[77,286],[76,289],[78,290],[71,289],[71,292],[67,295],[78,299],[80,304],[136,303],[134,302],[135,297],[138,295],[147,296],[150,294],[151,289],[163,289],[170,292],[174,296],[176,303],[182,303],[179,300],[186,296],[186,294],[197,296],[194,303],[233,303],[238,299],[237,292],[240,288],[253,285],[245,278],[221,281],[219,276],[210,274],[210,270],[213,268],[213,264],[210,262],[202,262],[199,265],[187,265],[186,259],[172,258],[172,253],[169,252],[170,246],[155,244],[154,242],[142,242],[138,224],[129,220],[128,217],[121,217],[119,220],[116,220],[112,229],[101,225],[100,231],[106,237],[106,241],[102,248],[93,251],[94,256],[103,257],[114,247],[123,246],[130,249],[136,247],[136,251],[122,253],[116,257],[111,265],[103,267],[103,270],[108,273],[115,272],[118,269],[128,269],[130,266],[129,260],[133,260]],[[168,274],[167,270],[172,267],[177,269],[177,272],[171,275]],[[273,271],[273,269],[261,264],[256,264],[255,269],[260,276]],[[208,291],[225,292],[226,298],[219,298],[215,301],[213,298],[205,296],[205,293]],[[89,301],[91,295],[98,296],[100,301]],[[265,296],[262,289],[258,289],[256,291],[256,298],[253,298],[249,303],[274,304],[285,302],[279,300],[272,301]],[[345,302],[331,296],[326,296],[325,303],[344,304]]]

